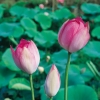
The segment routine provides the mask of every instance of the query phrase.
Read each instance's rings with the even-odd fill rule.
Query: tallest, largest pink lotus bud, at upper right
[[[69,52],[80,50],[89,39],[89,23],[84,23],[80,17],[66,21],[58,34],[59,44]]]

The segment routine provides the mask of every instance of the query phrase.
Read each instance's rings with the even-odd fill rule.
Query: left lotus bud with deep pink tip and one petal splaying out
[[[36,71],[39,65],[40,55],[33,41],[22,39],[15,51],[12,46],[10,46],[10,49],[14,62],[21,70],[28,74]]]

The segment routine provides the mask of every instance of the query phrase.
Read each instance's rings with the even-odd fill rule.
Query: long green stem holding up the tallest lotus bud
[[[70,65],[70,59],[71,59],[71,53],[68,52],[68,59],[67,59],[67,64],[66,64],[66,70],[65,70],[65,90],[64,90],[64,100],[67,100],[67,91],[68,91],[68,70],[69,70],[69,65]]]

